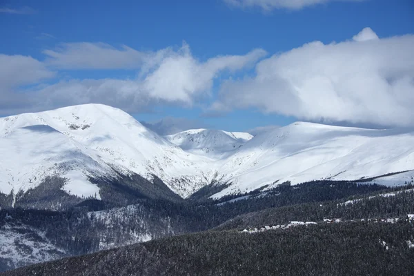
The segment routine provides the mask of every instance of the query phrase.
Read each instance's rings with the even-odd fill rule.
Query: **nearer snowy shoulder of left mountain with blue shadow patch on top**
[[[110,174],[111,169],[96,155],[47,125],[14,128],[1,138],[1,192],[28,190],[49,175],[68,177],[65,189],[74,195],[95,195],[99,188],[90,184],[88,175]]]

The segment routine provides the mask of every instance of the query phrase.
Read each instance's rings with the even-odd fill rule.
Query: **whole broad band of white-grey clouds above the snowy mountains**
[[[254,108],[327,124],[414,126],[413,48],[413,34],[380,38],[371,28],[346,41],[313,41],[273,56],[258,48],[205,60],[186,43],[157,51],[66,43],[45,50],[44,60],[0,55],[0,114],[81,103],[127,112],[174,105],[206,108],[212,116]],[[246,68],[254,74],[244,75]],[[136,77],[67,77],[79,69],[128,69]]]

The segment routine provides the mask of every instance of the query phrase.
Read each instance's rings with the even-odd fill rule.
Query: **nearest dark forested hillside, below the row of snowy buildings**
[[[297,226],[159,239],[4,273],[23,275],[413,275],[408,223]],[[408,241],[408,242],[407,242]]]

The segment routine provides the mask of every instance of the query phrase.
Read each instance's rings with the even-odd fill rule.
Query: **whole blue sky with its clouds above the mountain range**
[[[181,117],[195,119],[200,126],[233,131],[286,125],[296,120],[355,126],[412,126],[413,119],[404,118],[413,117],[406,104],[413,103],[413,64],[409,56],[414,53],[407,49],[413,46],[414,2],[313,2],[316,0],[299,0],[297,3],[302,6],[292,8],[280,0],[0,1],[0,54],[4,71],[12,67],[14,75],[23,74],[25,71],[19,68],[23,66],[28,70],[25,76],[30,75],[28,79],[18,77],[10,81],[14,75],[10,70],[8,74],[3,71],[2,78],[0,68],[0,86],[3,86],[0,88],[6,91],[0,115],[99,101],[122,108],[141,121]],[[353,40],[367,27],[370,29],[364,34],[372,32],[375,39]],[[313,41],[321,41],[323,47],[304,46]],[[333,42],[336,45],[331,46]],[[133,50],[128,52],[124,46]],[[384,59],[384,64],[366,66],[362,72],[367,72],[367,82],[375,81],[373,86],[396,79],[395,86],[388,81],[386,87],[375,90],[381,91],[380,95],[376,96],[375,91],[373,95],[365,95],[367,89],[357,86],[366,83],[359,73],[358,82],[348,87],[350,81],[346,76],[355,73],[348,64],[350,61],[342,61],[348,46],[359,55],[355,61],[366,57],[368,62],[375,61],[371,49],[391,48],[391,52],[394,49],[397,56],[389,59],[396,63],[404,61],[404,66],[396,65],[392,72],[385,70],[385,75],[371,74],[369,70],[384,72],[389,62]],[[113,51],[106,52],[108,48]],[[163,49],[168,49],[165,55],[160,52]],[[89,51],[97,53],[95,59],[92,59],[94,52]],[[140,53],[150,55],[141,58]],[[157,53],[162,54],[160,60],[155,57]],[[279,59],[281,55],[286,58]],[[311,60],[312,55],[318,60]],[[388,54],[377,52],[377,55]],[[103,56],[108,59],[105,64],[99,62]],[[237,61],[220,59],[214,61],[215,66],[208,65],[211,59],[223,56],[232,56]],[[18,57],[21,60],[17,61]],[[128,59],[137,59],[137,66]],[[160,70],[172,59],[177,63]],[[285,72],[298,72],[297,68],[302,68],[297,59],[306,66],[317,62],[308,72],[313,72],[313,68],[318,70],[311,77],[286,75]],[[319,64],[326,59],[330,63]],[[118,61],[117,66],[111,66]],[[330,66],[343,63],[346,63],[344,70],[330,73]],[[148,72],[139,75],[145,66]],[[169,70],[181,72],[181,68],[185,68],[184,77],[170,74]],[[263,68],[263,72],[259,73],[258,68]],[[269,75],[272,70],[274,73]],[[197,82],[194,79],[199,75],[203,77]],[[161,80],[174,82],[177,77],[182,77],[182,82],[171,92],[166,90],[176,83],[158,85]],[[301,80],[306,78],[308,81],[303,83]],[[105,79],[118,82],[108,84],[103,82]],[[324,92],[326,79],[331,81],[328,92]],[[128,87],[119,83],[123,80],[130,81]],[[94,91],[102,86],[110,88],[105,92]],[[117,95],[118,86],[126,92]],[[76,92],[77,88],[81,92]],[[395,95],[396,89],[404,93]],[[348,91],[353,94],[348,95]],[[88,92],[93,97],[86,95]],[[379,114],[368,101],[373,98],[378,99],[377,108],[395,110]],[[317,109],[309,107],[313,105],[311,100],[326,102]],[[321,111],[331,103],[338,106]]]

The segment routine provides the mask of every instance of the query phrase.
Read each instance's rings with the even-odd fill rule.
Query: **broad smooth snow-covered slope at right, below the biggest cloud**
[[[413,169],[413,130],[297,122],[255,136],[226,160],[221,173],[232,175],[233,185],[214,197],[284,181],[357,180]],[[413,175],[408,172],[404,177]],[[393,184],[398,184],[398,179],[396,175]]]

